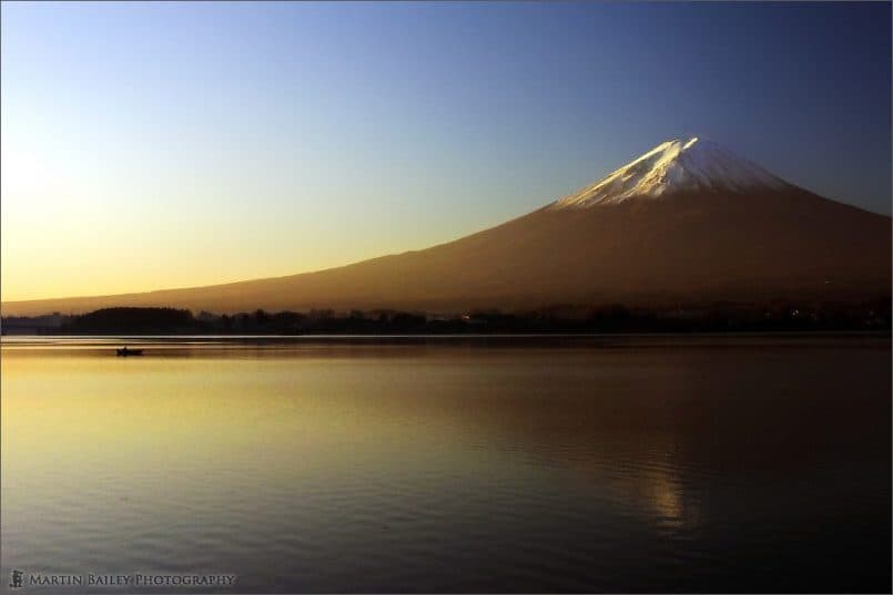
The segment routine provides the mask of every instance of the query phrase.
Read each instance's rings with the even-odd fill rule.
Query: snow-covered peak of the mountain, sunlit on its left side
[[[667,141],[591,186],[556,201],[556,208],[617,204],[694,189],[743,193],[788,183],[711,141]]]

